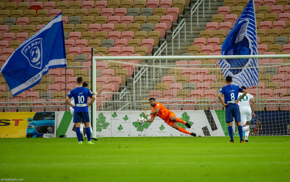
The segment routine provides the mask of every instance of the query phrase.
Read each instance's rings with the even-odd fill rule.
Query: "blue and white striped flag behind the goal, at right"
[[[229,35],[222,44],[222,55],[257,55],[257,31],[253,0],[247,4]],[[226,77],[233,77],[233,84],[247,88],[257,85],[257,59],[220,59],[219,65]]]

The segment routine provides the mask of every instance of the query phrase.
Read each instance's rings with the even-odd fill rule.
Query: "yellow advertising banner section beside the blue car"
[[[1,112],[0,138],[26,138],[28,118],[36,112]]]

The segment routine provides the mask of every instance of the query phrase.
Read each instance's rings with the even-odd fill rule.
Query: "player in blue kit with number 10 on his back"
[[[88,96],[91,99],[90,103],[87,103]],[[70,103],[70,98],[74,97],[75,105]],[[83,87],[83,78],[78,77],[77,78],[77,88],[74,88],[70,91],[68,96],[66,97],[66,102],[68,105],[70,105],[72,108],[75,109],[73,114],[73,122],[75,123],[76,127],[76,134],[77,139],[79,140],[79,145],[82,145],[81,142],[81,131],[80,131],[80,125],[81,121],[85,124],[86,127],[86,134],[88,136],[88,144],[94,144],[91,140],[91,134],[90,134],[90,119],[88,114],[88,107],[93,104],[96,97],[94,96],[93,92],[90,92],[88,88]]]

